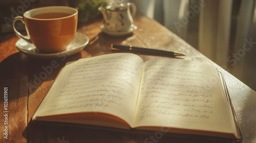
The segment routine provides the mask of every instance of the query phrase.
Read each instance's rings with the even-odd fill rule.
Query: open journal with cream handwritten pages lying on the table
[[[130,53],[62,68],[32,120],[240,138],[216,67]]]

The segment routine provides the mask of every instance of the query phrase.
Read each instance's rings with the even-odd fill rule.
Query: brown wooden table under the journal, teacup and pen
[[[35,81],[43,66],[51,65],[52,60],[36,59],[20,53],[13,33],[5,34],[0,42],[0,142],[144,142],[150,134],[133,134],[124,132],[108,132],[77,127],[57,125],[31,125],[31,117],[44,99],[59,70],[69,61],[78,60],[106,53],[112,53],[110,46],[114,44],[154,47],[163,50],[177,50],[187,55],[185,60],[214,64],[220,68],[226,79],[231,101],[237,115],[243,142],[256,141],[256,92],[244,83],[227,73],[217,64],[206,58],[194,47],[161,26],[153,19],[141,14],[135,17],[138,27],[133,34],[123,37],[111,37],[101,32],[101,19],[93,20],[79,27],[78,31],[88,35],[89,44],[81,52],[58,59],[58,67],[47,74],[45,80]],[[140,55],[144,60],[167,58]],[[4,90],[8,87],[8,139],[4,138]],[[154,135],[154,134],[153,134]],[[191,138],[190,138],[191,137]],[[207,138],[197,139],[190,136],[163,136],[158,142],[209,142]],[[211,140],[215,142],[215,140]]]

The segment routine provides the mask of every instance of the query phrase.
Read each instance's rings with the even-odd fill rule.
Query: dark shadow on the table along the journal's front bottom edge
[[[230,142],[211,137],[171,134],[160,131],[138,132],[136,130],[121,130],[101,128],[87,125],[63,123],[29,123],[24,131],[28,142]]]

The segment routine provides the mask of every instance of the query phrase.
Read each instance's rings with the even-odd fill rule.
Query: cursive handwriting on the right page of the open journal
[[[154,118],[216,118],[220,84],[212,85],[207,92],[205,81],[211,77],[215,68],[187,62],[159,60],[148,61],[144,65],[138,107],[137,124],[154,121]],[[219,89],[219,90],[218,90]],[[215,103],[215,104],[214,104]],[[216,104],[217,103],[217,104]],[[189,119],[188,119],[189,120]]]

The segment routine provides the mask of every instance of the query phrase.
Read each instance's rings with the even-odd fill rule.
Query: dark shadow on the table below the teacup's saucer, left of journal
[[[79,58],[80,53],[51,60],[14,53],[0,63],[0,78],[5,81],[1,82],[0,88],[8,87],[9,100],[28,96],[28,93],[33,93],[45,81],[53,81],[67,62]]]

